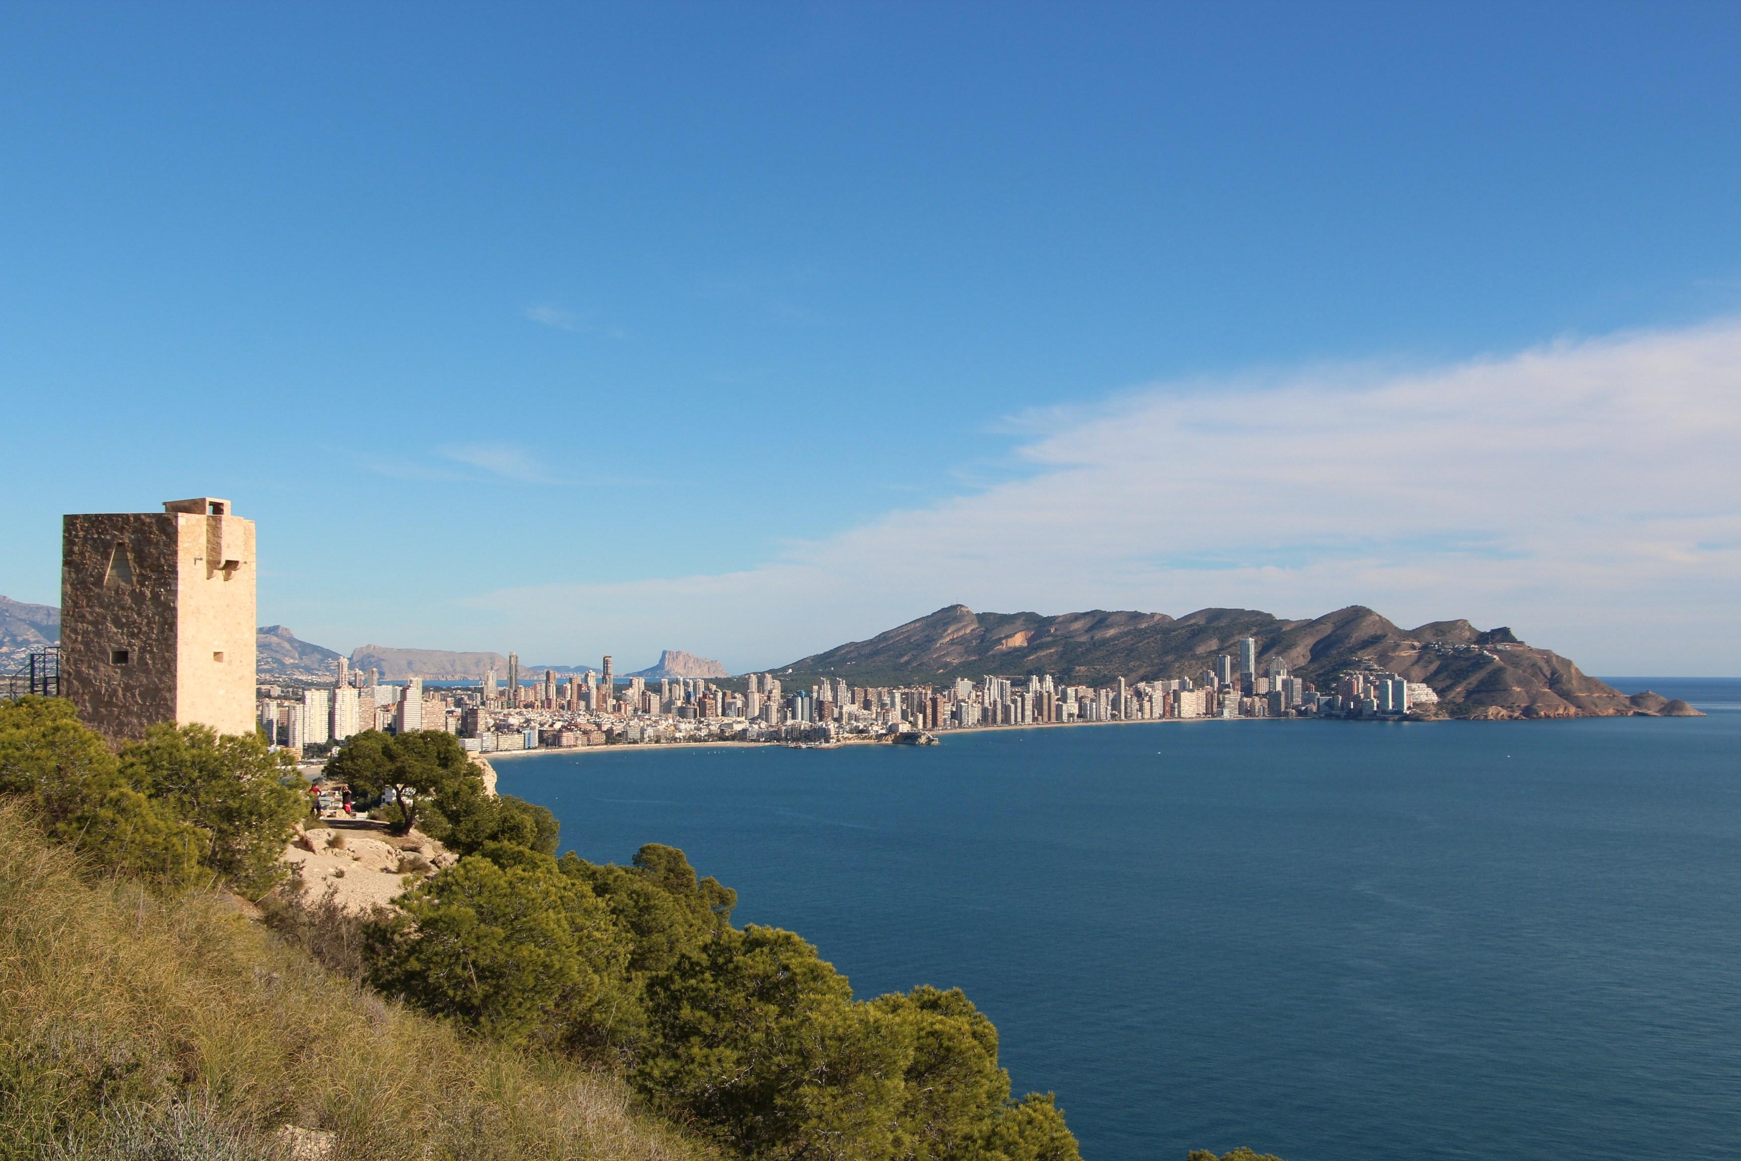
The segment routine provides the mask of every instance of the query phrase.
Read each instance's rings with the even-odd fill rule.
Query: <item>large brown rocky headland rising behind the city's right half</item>
[[[973,613],[954,604],[916,621],[792,661],[782,679],[803,684],[844,677],[855,684],[944,684],[982,674],[1052,674],[1065,682],[1107,684],[1119,677],[1200,677],[1215,658],[1238,656],[1257,641],[1259,667],[1281,658],[1288,670],[1328,686],[1349,670],[1393,672],[1429,686],[1438,715],[1591,717],[1697,715],[1685,701],[1657,695],[1628,698],[1583,674],[1570,660],[1518,641],[1509,628],[1429,621],[1400,628],[1365,606],[1290,621],[1255,609],[1165,613]]]

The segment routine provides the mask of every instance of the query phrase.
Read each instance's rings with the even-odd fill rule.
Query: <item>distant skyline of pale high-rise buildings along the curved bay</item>
[[[740,686],[742,688],[736,688]],[[360,729],[447,729],[481,752],[569,748],[613,742],[834,742],[912,731],[1193,717],[1400,717],[1431,700],[1396,674],[1349,672],[1332,689],[1294,677],[1280,658],[1257,661],[1257,641],[1215,658],[1194,677],[1067,684],[1050,674],[963,677],[947,686],[799,686],[749,674],[726,688],[705,679],[616,677],[599,670],[561,677],[521,674],[508,656],[475,686],[383,686],[339,668],[331,689],[261,698],[261,724],[282,745],[343,742]],[[272,691],[266,691],[268,695]]]

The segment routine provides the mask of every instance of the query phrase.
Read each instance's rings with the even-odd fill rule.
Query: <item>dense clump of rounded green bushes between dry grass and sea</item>
[[[486,1036],[615,1062],[736,1154],[1078,1161],[1050,1095],[1010,1100],[998,1032],[966,996],[855,1003],[790,931],[731,928],[736,893],[676,848],[611,867],[484,839],[400,905],[369,945],[378,987]]]

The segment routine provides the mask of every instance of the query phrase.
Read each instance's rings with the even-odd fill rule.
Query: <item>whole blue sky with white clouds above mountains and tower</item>
[[[0,592],[56,599],[61,512],[223,494],[261,620],[334,648],[1360,602],[1736,672],[1738,50],[1715,3],[9,5]],[[1673,414],[1569,402],[1694,364],[1657,458]],[[1541,404],[1504,463],[1630,515],[1543,540],[1483,413],[1360,402],[1480,367]],[[1389,426],[1229,440],[1274,392]],[[1417,527],[1306,498],[1367,449],[1440,480]],[[1005,531],[902,540],[938,522]]]

